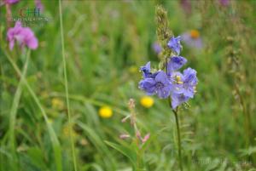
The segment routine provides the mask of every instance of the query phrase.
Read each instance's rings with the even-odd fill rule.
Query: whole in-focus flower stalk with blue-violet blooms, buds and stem
[[[155,13],[157,22],[156,34],[162,46],[161,49],[163,49],[159,54],[159,70],[151,70],[150,61],[145,66],[142,66],[140,70],[143,72],[143,79],[138,83],[138,87],[148,95],[156,94],[160,99],[168,100],[175,115],[179,168],[183,171],[177,107],[194,98],[198,79],[196,71],[190,67],[183,70],[183,73],[179,71],[188,61],[179,55],[182,50],[181,37],[174,37],[172,31],[169,30],[165,9],[157,6]]]

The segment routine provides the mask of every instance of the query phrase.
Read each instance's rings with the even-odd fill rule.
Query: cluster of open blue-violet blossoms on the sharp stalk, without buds
[[[195,88],[198,83],[196,71],[187,68],[182,72],[178,71],[187,60],[179,56],[181,51],[180,37],[172,37],[167,43],[175,55],[171,56],[166,63],[166,71],[154,71],[150,69],[150,62],[141,67],[143,80],[139,88],[148,95],[157,94],[160,99],[172,98],[172,108],[177,108],[190,98],[194,97]]]

